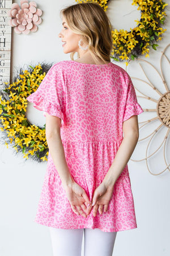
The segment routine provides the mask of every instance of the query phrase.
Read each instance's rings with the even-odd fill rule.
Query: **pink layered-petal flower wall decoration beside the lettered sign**
[[[36,25],[42,22],[40,18],[42,11],[36,8],[36,2],[28,3],[28,0],[20,1],[20,6],[18,3],[12,3],[11,10],[8,12],[8,16],[11,17],[10,26],[15,27],[16,34],[29,34],[30,31],[36,32]]]

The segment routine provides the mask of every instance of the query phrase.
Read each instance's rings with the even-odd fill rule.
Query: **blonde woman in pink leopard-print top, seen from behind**
[[[49,147],[35,221],[50,227],[55,256],[80,255],[83,233],[84,256],[110,256],[117,232],[137,228],[127,163],[143,110],[128,73],[111,62],[111,23],[100,5],[61,14],[58,36],[71,60],[54,64],[28,97],[46,113]]]

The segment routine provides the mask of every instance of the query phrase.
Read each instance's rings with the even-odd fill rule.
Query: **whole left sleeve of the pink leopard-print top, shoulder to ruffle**
[[[63,119],[65,113],[65,84],[62,67],[54,64],[36,92],[27,97],[36,109]]]

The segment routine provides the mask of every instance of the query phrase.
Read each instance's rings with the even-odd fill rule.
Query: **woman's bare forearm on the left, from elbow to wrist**
[[[46,141],[48,143],[54,166],[57,169],[59,177],[61,178],[63,187],[72,184],[74,180],[70,174],[69,167],[67,166],[65,151],[60,135],[53,132],[50,135],[46,135]]]

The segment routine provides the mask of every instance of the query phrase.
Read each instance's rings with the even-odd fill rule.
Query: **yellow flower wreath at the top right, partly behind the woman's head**
[[[104,11],[108,9],[108,2],[111,0],[75,0],[78,3],[97,2]],[[114,1],[114,0],[113,0]],[[118,31],[112,30],[113,49],[111,58],[116,61],[126,61],[137,59],[141,55],[149,57],[150,47],[156,50],[157,42],[162,40],[162,35],[166,31],[163,29],[166,13],[164,11],[168,3],[162,0],[133,0],[132,5],[138,6],[141,11],[141,19],[135,20],[137,27]]]

